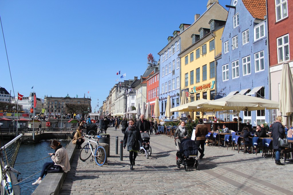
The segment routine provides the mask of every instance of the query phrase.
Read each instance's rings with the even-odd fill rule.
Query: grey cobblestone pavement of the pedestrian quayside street
[[[123,161],[115,154],[115,137],[123,139],[121,129],[110,127],[107,133],[108,165],[99,167],[91,158],[82,162],[77,150],[60,194],[293,194],[291,162],[280,166],[259,153],[243,155],[231,148],[205,146],[199,170],[185,172],[182,165],[176,167],[174,139],[151,135],[151,156],[139,154],[130,170],[128,151],[123,150]]]

